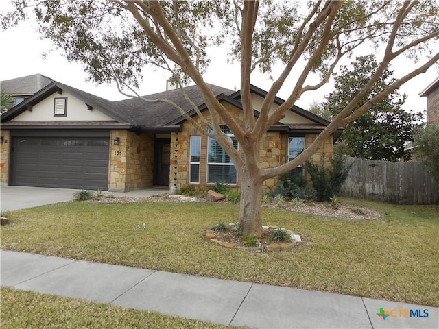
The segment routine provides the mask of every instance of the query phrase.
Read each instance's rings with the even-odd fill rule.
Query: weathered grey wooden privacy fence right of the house
[[[352,164],[340,195],[394,204],[439,204],[439,188],[418,162],[385,162],[344,156]]]

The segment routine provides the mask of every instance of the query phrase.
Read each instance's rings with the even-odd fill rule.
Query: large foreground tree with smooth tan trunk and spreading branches
[[[64,49],[67,59],[84,63],[95,82],[115,81],[121,88],[133,91],[143,67],[152,64],[171,71],[176,82],[190,79],[198,85],[210,119],[195,104],[200,124],[182,114],[202,134],[215,138],[233,159],[241,178],[239,228],[246,236],[260,236],[262,232],[264,180],[305,162],[337,128],[357,119],[439,59],[439,9],[435,1],[311,1],[306,8],[300,8],[301,2],[241,0],[15,3],[16,12],[1,17],[3,26],[14,25],[26,18],[29,11],[33,12],[43,36]],[[244,127],[233,119],[203,80],[202,74],[209,64],[206,49],[217,45],[228,47],[230,56],[240,63]],[[370,80],[302,154],[278,167],[261,168],[261,136],[292,108],[300,95],[327,83],[340,60],[361,45],[385,45]],[[416,58],[420,53],[425,53],[427,59],[416,69],[401,75],[368,103],[355,107],[370,93],[390,62],[403,54]],[[277,62],[283,63],[283,70],[274,77],[259,117],[254,117],[250,96],[252,72],[270,74]],[[289,82],[289,96],[271,111],[276,94],[292,72],[298,73],[298,77],[294,84]],[[307,84],[311,73],[319,75],[318,83]],[[221,131],[221,124],[233,132],[241,152]]]

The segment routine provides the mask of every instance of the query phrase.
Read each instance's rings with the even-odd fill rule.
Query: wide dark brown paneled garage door
[[[108,138],[15,137],[12,185],[108,189]]]

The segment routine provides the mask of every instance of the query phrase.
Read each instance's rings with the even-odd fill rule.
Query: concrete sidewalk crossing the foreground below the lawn
[[[2,250],[1,286],[250,328],[438,328],[439,308]],[[377,313],[383,308],[391,316]],[[414,317],[399,317],[412,310]],[[419,311],[418,311],[419,310]],[[428,317],[425,317],[427,310]],[[410,314],[410,311],[401,314]],[[424,317],[416,317],[423,315]]]

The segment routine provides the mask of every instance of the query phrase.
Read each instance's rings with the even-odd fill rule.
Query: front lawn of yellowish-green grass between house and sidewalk
[[[341,201],[346,201],[342,199]],[[383,214],[349,221],[264,209],[292,230],[290,252],[250,253],[202,239],[235,205],[69,202],[11,212],[1,247],[103,263],[439,306],[438,207],[359,202]],[[145,223],[145,230],[133,230]]]

